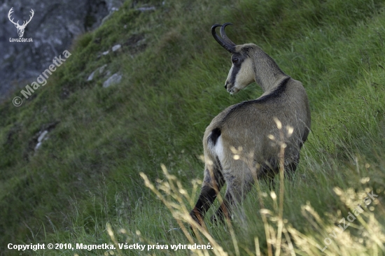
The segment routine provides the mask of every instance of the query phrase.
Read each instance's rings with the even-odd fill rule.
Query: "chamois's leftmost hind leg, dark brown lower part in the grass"
[[[225,180],[219,162],[217,161],[214,165],[206,164],[200,197],[193,211],[190,212],[190,216],[200,225],[202,225],[204,214],[213,204],[224,183]]]

